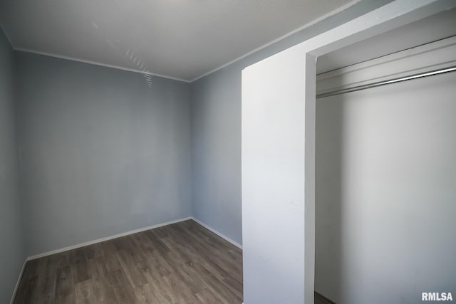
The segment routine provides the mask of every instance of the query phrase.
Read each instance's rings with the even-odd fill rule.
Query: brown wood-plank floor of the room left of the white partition
[[[242,303],[242,251],[182,221],[28,261],[14,303]]]

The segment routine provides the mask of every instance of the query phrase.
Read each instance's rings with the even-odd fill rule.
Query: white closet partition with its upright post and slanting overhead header
[[[242,73],[244,303],[314,303],[316,58],[437,14],[397,0]]]

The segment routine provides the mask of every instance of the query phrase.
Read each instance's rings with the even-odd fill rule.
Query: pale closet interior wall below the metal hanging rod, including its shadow
[[[455,296],[455,83],[317,101],[315,288],[336,303]]]

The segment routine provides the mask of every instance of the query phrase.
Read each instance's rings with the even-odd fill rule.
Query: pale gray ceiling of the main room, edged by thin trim
[[[0,22],[18,50],[193,80],[354,2],[4,0]]]

